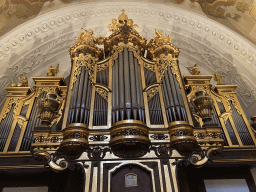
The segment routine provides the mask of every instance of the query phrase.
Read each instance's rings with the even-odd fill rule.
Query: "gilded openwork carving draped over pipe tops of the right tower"
[[[159,58],[156,58],[156,63],[160,80],[164,78],[164,72],[167,70],[168,66],[170,66],[172,74],[176,75],[176,79],[181,87],[181,77],[179,73],[177,58],[173,57],[171,54],[161,54]]]

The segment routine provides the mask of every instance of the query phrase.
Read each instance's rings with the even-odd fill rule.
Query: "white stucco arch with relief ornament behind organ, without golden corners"
[[[256,111],[255,45],[227,27],[207,17],[171,5],[143,2],[83,3],[58,9],[19,25],[0,39],[0,99],[3,87],[18,82],[17,76],[46,75],[49,65],[60,64],[59,75],[69,75],[68,48],[76,41],[80,27],[93,29],[94,35],[108,36],[107,25],[121,9],[139,25],[145,38],[155,37],[154,30],[171,35],[181,48],[179,64],[199,64],[201,74],[225,75],[225,84],[238,84],[238,97],[248,117]],[[215,84],[215,82],[212,82]],[[32,81],[29,85],[33,86]]]

